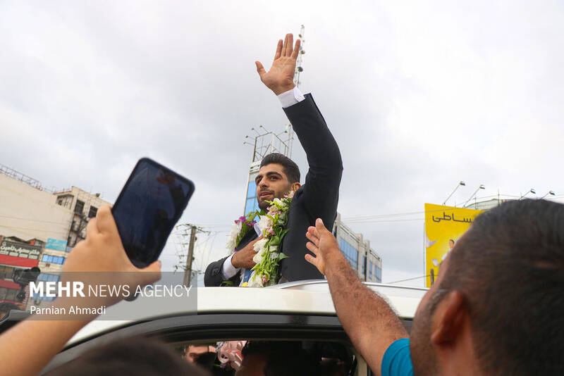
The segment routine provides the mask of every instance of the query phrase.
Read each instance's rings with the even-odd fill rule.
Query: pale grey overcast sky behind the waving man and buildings
[[[564,197],[563,16],[561,1],[0,1],[0,163],[113,202],[154,158],[195,182],[181,222],[214,232],[205,266],[243,211],[245,135],[287,123],[254,62],[303,24],[302,91],[343,156],[338,211],[418,212],[350,227],[384,282],[422,276],[424,203],[460,180],[449,203],[479,184]],[[293,158],[305,176],[297,140]]]

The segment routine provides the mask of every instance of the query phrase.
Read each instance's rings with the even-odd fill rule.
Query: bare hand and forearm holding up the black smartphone
[[[69,253],[63,267],[69,272],[112,272],[112,283],[130,286],[146,285],[159,280],[161,263],[156,261],[145,269],[138,269],[129,261],[121,244],[116,222],[109,206],[99,208],[97,218],[90,220],[86,239]],[[127,272],[127,273],[125,273]],[[135,273],[134,273],[135,272]],[[119,297],[99,298],[95,303],[110,306]],[[53,301],[54,308],[70,306],[90,306],[92,299],[58,298]],[[93,315],[80,316],[80,320],[53,320],[45,315],[41,320],[24,320],[0,335],[0,375],[37,375],[66,342],[90,320]],[[49,341],[45,341],[48,338]],[[33,356],[22,361],[21,355],[32,351]]]

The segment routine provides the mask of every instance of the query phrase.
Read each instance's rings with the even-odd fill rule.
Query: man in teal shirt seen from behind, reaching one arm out
[[[564,375],[564,205],[502,203],[477,216],[424,295],[411,333],[362,284],[317,220],[305,256],[376,375]]]

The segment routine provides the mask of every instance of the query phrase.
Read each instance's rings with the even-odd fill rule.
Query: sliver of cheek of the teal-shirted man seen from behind
[[[438,373],[438,363],[436,353],[431,344],[431,329],[433,326],[431,308],[436,304],[437,299],[441,299],[441,281],[448,268],[448,260],[452,252],[448,253],[445,261],[441,263],[441,272],[434,284],[423,296],[421,303],[417,307],[413,318],[410,334],[410,350],[415,375],[436,375]]]

